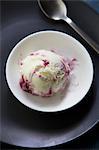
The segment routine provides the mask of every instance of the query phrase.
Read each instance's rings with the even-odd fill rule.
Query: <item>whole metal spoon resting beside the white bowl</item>
[[[38,4],[48,18],[66,21],[99,54],[99,45],[67,16],[67,8],[62,0],[38,0]]]

